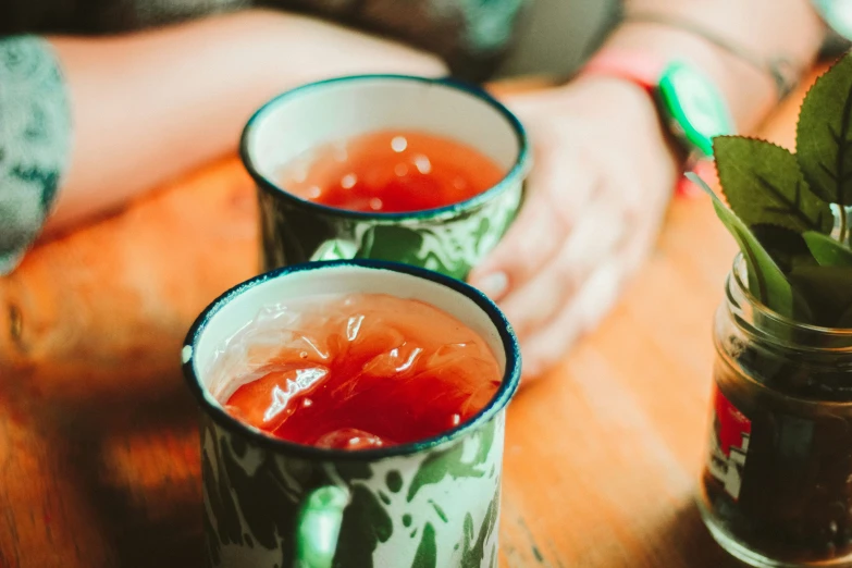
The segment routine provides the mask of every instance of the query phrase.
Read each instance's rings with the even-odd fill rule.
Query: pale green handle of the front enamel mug
[[[349,491],[341,485],[324,485],[308,494],[296,521],[294,568],[331,568],[349,501]]]

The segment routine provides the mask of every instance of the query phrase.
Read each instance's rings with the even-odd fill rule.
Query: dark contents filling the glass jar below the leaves
[[[751,355],[746,350],[741,357],[748,360]],[[767,360],[746,362],[763,368]],[[775,386],[788,394],[817,395],[818,385],[830,381],[803,380],[801,369],[799,376],[797,370],[787,376],[788,371],[782,368],[783,374],[774,378]],[[745,452],[727,448],[726,456],[717,450],[704,469],[702,486],[716,523],[774,560],[816,563],[852,554],[850,410],[762,388],[724,363],[717,365],[715,374],[718,393],[745,417],[750,430]],[[817,392],[810,392],[808,384]],[[730,441],[729,433],[720,432],[723,420],[717,410],[712,435]],[[740,441],[731,445],[739,446]],[[734,466],[737,460],[743,462]],[[731,484],[719,472],[732,467],[738,470]],[[739,490],[732,491],[738,483]]]

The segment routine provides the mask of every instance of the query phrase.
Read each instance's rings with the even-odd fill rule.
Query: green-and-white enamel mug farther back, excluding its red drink
[[[281,187],[284,166],[318,146],[402,129],[452,138],[505,171],[459,203],[407,213],[336,209]],[[514,221],[530,169],[520,122],[487,92],[452,79],[360,75],[285,92],[249,120],[240,144],[260,202],[261,268],[311,260],[393,260],[464,279]]]

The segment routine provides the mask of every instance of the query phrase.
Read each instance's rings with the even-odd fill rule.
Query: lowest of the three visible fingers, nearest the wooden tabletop
[[[609,312],[623,281],[623,259],[601,264],[570,304],[544,328],[521,341],[523,380],[533,380],[558,363],[583,334]]]

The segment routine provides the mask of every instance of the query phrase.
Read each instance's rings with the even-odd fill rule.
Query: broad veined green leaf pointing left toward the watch
[[[771,143],[740,136],[713,139],[723,193],[746,225],[829,233],[828,203],[811,192],[795,157]]]

